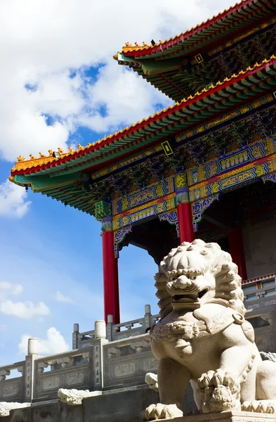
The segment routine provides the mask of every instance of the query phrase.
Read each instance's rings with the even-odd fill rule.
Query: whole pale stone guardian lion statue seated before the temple
[[[183,416],[190,382],[199,411],[276,413],[276,364],[263,361],[244,319],[237,265],[217,243],[172,249],[155,276],[161,319],[150,331],[161,403],[143,419]]]

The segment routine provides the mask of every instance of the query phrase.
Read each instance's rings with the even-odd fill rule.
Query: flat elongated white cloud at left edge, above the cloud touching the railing
[[[33,302],[12,302],[5,300],[0,302],[0,312],[6,315],[18,316],[22,319],[32,319],[37,316],[50,314],[50,309],[44,302],[34,304]]]

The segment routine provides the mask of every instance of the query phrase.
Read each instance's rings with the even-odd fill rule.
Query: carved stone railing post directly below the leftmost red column
[[[105,321],[95,322],[95,339],[93,340],[93,388],[103,389],[103,345],[108,343],[106,338]]]

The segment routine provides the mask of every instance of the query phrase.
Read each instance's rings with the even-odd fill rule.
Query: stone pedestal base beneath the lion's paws
[[[183,418],[162,419],[163,422],[276,422],[276,414],[257,414],[249,411],[226,411]],[[159,420],[159,422],[162,422]]]

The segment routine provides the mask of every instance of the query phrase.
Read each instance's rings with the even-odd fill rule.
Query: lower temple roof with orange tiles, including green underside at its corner
[[[202,136],[220,124],[229,124],[235,115],[242,119],[255,113],[255,108],[261,108],[262,104],[272,103],[274,107],[275,75],[276,57],[272,56],[270,60],[256,63],[254,67],[204,88],[166,110],[131,124],[131,127],[86,147],[79,146],[77,151],[72,148],[67,153],[59,150],[59,158],[55,158],[51,150],[48,156],[39,153],[39,158],[31,155],[30,160],[19,157],[11,172],[11,180],[94,214],[96,201],[106,198],[108,189],[106,183],[97,185],[98,179],[115,170],[121,172],[131,163],[147,159],[147,155],[162,153],[161,142],[168,139],[175,151],[180,146],[183,146],[184,152],[188,151],[187,138],[197,134],[199,124],[202,124],[202,129],[198,132]],[[263,96],[269,98],[258,100]],[[183,131],[190,131],[190,135],[181,136]],[[203,153],[199,151],[199,155]],[[89,194],[81,188],[84,172],[91,174],[95,181],[93,192]]]

